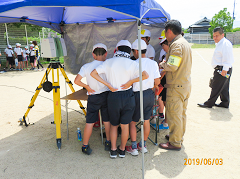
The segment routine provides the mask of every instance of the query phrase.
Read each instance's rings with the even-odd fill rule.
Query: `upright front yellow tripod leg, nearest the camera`
[[[57,147],[61,148],[61,103],[60,103],[60,86],[59,86],[59,69],[57,71],[57,81],[54,79],[54,69],[52,69],[53,81],[53,106],[54,106],[54,123],[56,125],[56,142]]]

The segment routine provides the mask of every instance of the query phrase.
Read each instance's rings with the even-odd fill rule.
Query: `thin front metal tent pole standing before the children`
[[[142,91],[142,51],[141,51],[141,20],[137,21],[138,26],[138,58],[139,58],[139,82],[140,82],[140,117],[141,117],[141,140],[142,140],[142,148],[144,147],[144,129],[143,129],[143,91]],[[143,150],[142,150],[143,151]],[[144,178],[144,152],[142,152],[142,178]]]

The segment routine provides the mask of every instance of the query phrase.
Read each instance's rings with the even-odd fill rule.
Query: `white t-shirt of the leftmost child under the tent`
[[[105,91],[109,91],[108,87],[105,86],[104,84],[100,83],[99,81],[95,80],[90,73],[96,69],[96,67],[98,67],[99,65],[101,65],[103,63],[103,61],[98,61],[98,60],[94,60],[90,63],[86,63],[85,65],[82,66],[82,68],[79,71],[79,75],[81,75],[82,77],[86,77],[87,79],[87,84],[90,86],[90,88],[92,88],[95,93],[94,94],[100,94],[102,92]],[[106,76],[105,74],[100,74],[99,75],[103,80],[106,81]],[[91,94],[91,95],[94,95]],[[87,95],[89,95],[87,93]]]

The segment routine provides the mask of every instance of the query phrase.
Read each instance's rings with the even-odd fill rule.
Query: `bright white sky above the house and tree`
[[[212,17],[223,8],[227,8],[227,12],[233,16],[234,0],[155,0],[165,11],[167,11],[171,19],[179,20],[183,28],[188,28],[195,22],[207,17]],[[240,0],[235,0],[235,21],[233,28],[240,27]]]

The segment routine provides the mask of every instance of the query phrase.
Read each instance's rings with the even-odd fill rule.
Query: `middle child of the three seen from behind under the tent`
[[[139,65],[130,59],[131,43],[128,40],[121,40],[116,46],[116,53],[113,58],[107,59],[98,66],[91,76],[99,82],[105,84],[111,91],[108,94],[108,112],[111,123],[110,157],[125,157],[125,146],[129,135],[129,123],[135,108],[135,98],[132,91],[132,84],[139,81]],[[99,74],[105,74],[106,80]],[[148,78],[148,74],[142,73],[143,80]],[[123,86],[123,84],[125,84]],[[117,147],[117,130],[121,124],[121,145]]]

